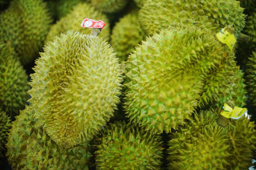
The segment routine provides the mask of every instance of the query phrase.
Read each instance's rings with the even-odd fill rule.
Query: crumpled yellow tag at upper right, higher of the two
[[[233,46],[236,44],[236,38],[234,34],[230,34],[227,31],[227,27],[223,28],[216,34],[216,37],[221,41],[221,43],[226,44],[230,50],[233,49]]]

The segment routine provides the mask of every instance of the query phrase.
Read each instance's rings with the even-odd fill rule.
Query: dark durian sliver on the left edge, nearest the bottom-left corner
[[[7,133],[8,129],[11,127],[11,119],[6,113],[0,108],[0,168],[3,168],[6,163],[6,148],[5,144],[7,143]],[[5,161],[4,161],[5,160]]]

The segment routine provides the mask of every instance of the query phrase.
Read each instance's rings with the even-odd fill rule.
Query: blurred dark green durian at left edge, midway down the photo
[[[14,117],[28,99],[28,76],[10,46],[0,41],[0,107]]]

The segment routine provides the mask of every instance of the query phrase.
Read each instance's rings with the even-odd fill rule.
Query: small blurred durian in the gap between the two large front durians
[[[127,60],[129,53],[135,50],[135,46],[145,38],[140,24],[138,24],[138,13],[136,12],[121,18],[112,32],[111,45],[121,61]]]

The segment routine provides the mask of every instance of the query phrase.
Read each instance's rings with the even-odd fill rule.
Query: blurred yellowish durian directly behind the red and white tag
[[[110,36],[110,29],[109,29],[109,22],[106,15],[102,14],[100,11],[97,11],[91,4],[88,3],[79,3],[66,17],[61,18],[56,24],[51,27],[49,31],[45,44],[49,41],[52,41],[56,36],[60,36],[61,33],[65,33],[67,31],[78,31],[83,34],[90,34],[92,29],[81,27],[81,23],[84,19],[91,18],[93,20],[102,20],[106,23],[104,29],[102,29],[99,37],[102,37],[109,40]]]

